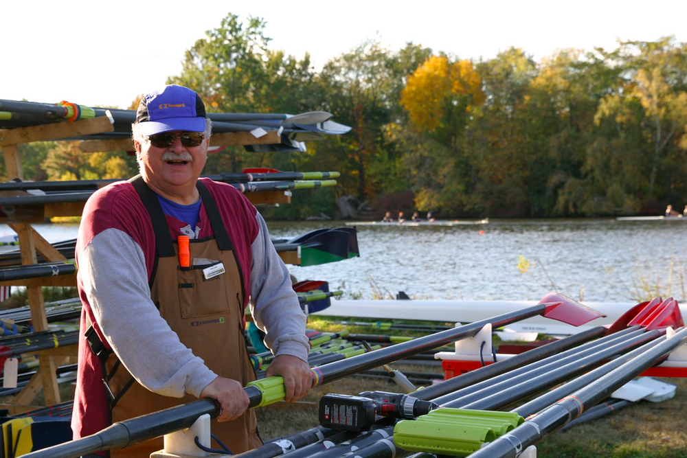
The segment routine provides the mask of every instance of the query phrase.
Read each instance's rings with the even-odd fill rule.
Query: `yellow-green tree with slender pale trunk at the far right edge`
[[[616,189],[631,196],[633,205],[626,211],[637,211],[641,203],[658,211],[665,206],[658,201],[686,196],[682,143],[687,132],[686,49],[668,37],[621,43],[604,53],[620,71],[613,90],[600,101],[595,119],[610,157],[621,158],[616,163],[624,172],[624,182]]]

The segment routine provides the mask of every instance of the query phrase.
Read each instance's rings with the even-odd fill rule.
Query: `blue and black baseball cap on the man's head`
[[[169,84],[162,91],[144,95],[136,122],[146,136],[172,130],[205,132],[205,105],[196,91]]]

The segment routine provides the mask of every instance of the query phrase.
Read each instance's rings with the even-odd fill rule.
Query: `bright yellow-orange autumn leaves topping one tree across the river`
[[[433,131],[441,124],[444,106],[466,97],[466,110],[484,103],[482,78],[469,60],[449,63],[446,56],[431,56],[408,77],[401,105],[420,130]]]

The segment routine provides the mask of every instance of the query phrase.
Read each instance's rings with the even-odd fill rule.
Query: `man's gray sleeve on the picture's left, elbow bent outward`
[[[179,341],[150,299],[141,247],[107,229],[79,253],[79,275],[96,321],[124,367],[144,387],[163,396],[200,396],[216,378]]]

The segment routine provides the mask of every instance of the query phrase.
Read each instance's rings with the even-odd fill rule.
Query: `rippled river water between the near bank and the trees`
[[[291,238],[341,221],[275,222]],[[49,242],[78,225],[34,225]],[[0,225],[0,235],[13,233]],[[486,225],[357,227],[360,257],[289,266],[299,280],[326,280],[346,299],[538,301],[551,291],[582,301],[672,296],[684,302],[687,220],[490,220]]]

